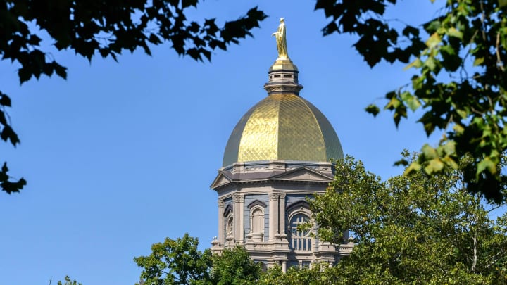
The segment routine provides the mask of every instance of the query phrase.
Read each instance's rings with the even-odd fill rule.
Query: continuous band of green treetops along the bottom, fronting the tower
[[[417,159],[408,152],[403,157]],[[135,258],[145,284],[503,284],[507,282],[507,213],[470,194],[463,172],[418,170],[382,181],[350,156],[339,160],[325,194],[310,201],[314,234],[334,244],[353,241],[351,255],[336,265],[261,267],[242,247],[221,255],[198,251],[188,234],[152,246]],[[343,229],[351,239],[344,241]]]

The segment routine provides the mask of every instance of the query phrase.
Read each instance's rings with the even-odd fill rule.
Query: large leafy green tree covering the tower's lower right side
[[[482,195],[466,191],[463,169],[470,163],[382,182],[360,161],[339,161],[334,182],[311,203],[321,239],[340,243],[342,229],[353,232],[356,246],[336,267],[339,282],[507,282],[507,213],[490,220]]]

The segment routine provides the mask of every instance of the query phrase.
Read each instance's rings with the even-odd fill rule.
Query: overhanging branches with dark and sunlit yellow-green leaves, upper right
[[[468,191],[501,202],[507,180],[499,170],[507,149],[507,1],[442,1],[444,7],[422,28],[386,19],[387,8],[396,2],[317,0],[315,9],[331,18],[325,35],[359,36],[353,46],[370,67],[382,60],[412,60],[407,65],[416,70],[411,84],[387,93],[384,109],[393,112],[396,126],[408,109],[422,109],[418,121],[425,132],[442,129],[446,135],[436,148],[425,145],[408,172],[423,164],[430,175],[445,166],[456,169],[470,154],[463,177]],[[366,110],[377,115],[380,108],[372,104]]]

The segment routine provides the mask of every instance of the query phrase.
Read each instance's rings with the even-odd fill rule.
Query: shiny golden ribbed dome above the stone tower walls
[[[296,94],[273,93],[253,106],[227,141],[223,166],[259,160],[329,161],[342,145],[320,110]]]

